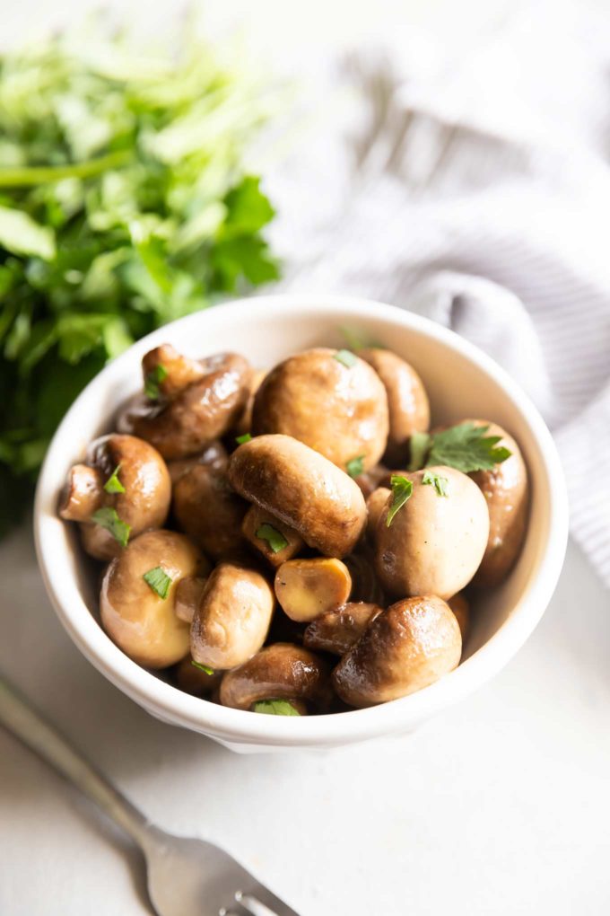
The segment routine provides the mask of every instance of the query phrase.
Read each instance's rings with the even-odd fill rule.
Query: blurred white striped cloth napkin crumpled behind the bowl
[[[332,120],[271,174],[273,244],[286,287],[419,311],[508,370],[610,586],[610,42],[560,7],[528,6],[435,76],[412,37],[316,65]]]

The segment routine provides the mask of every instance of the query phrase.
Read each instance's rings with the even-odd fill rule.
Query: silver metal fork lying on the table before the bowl
[[[77,786],[140,846],[157,916],[298,916],[219,846],[150,823],[0,678],[0,725]]]

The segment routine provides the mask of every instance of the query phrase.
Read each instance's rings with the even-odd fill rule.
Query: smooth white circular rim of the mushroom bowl
[[[103,631],[81,597],[80,601],[70,602],[62,594],[56,558],[58,551],[65,556],[69,549],[58,544],[54,537],[52,522],[56,523],[57,517],[48,511],[48,507],[57,502],[56,454],[63,451],[63,439],[74,419],[86,408],[92,390],[107,387],[114,377],[122,375],[125,363],[162,343],[168,329],[174,326],[195,326],[200,322],[239,322],[244,312],[247,312],[249,322],[256,321],[259,316],[268,320],[274,313],[285,314],[286,311],[325,317],[328,312],[343,311],[348,313],[344,315],[344,320],[373,318],[400,324],[465,356],[493,378],[530,428],[540,450],[550,515],[548,539],[538,552],[533,573],[513,612],[487,643],[455,671],[430,687],[391,703],[348,713],[303,718],[252,715],[202,701],[160,680],[124,655]],[[474,692],[508,663],[540,622],[557,584],[567,544],[568,498],[559,454],[538,409],[508,373],[475,344],[470,344],[453,331],[423,316],[376,300],[343,295],[277,293],[233,300],[212,310],[198,311],[178,319],[146,335],[105,366],[76,398],[50,442],[38,477],[34,533],[38,565],[59,620],[93,666],[135,702],[167,722],[217,737],[227,743],[327,747],[408,731],[424,718]]]

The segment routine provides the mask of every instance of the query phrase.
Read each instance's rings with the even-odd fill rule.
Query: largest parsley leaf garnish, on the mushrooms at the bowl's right
[[[474,423],[459,423],[434,433],[426,464],[445,464],[464,474],[493,471],[496,464],[507,460],[510,452],[498,446],[501,436],[486,436],[488,429]]]

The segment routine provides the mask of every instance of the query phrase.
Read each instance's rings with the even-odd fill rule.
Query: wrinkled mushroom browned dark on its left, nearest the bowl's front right
[[[352,706],[387,703],[422,690],[459,664],[462,638],[441,598],[396,602],[375,617],[333,672],[338,695]]]

